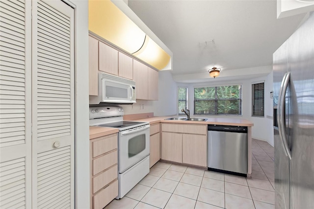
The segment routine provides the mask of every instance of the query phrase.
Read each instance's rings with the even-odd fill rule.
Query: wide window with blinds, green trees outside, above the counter
[[[194,88],[194,115],[242,115],[242,86]]]

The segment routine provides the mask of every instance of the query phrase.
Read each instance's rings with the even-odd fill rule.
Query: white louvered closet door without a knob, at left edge
[[[31,2],[0,0],[0,208],[31,208]]]

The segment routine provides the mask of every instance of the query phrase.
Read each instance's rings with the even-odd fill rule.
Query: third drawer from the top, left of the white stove
[[[118,178],[118,166],[115,165],[112,168],[101,173],[97,177],[93,178],[93,193],[100,190],[102,187]]]

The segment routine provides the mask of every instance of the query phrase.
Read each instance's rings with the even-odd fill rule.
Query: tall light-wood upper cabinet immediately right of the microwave
[[[135,81],[136,99],[148,99],[148,67],[133,60],[133,81]]]

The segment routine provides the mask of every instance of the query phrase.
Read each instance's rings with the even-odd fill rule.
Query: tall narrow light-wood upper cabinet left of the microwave
[[[89,95],[98,96],[98,40],[88,37]]]

